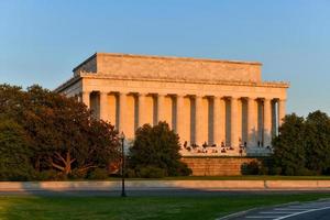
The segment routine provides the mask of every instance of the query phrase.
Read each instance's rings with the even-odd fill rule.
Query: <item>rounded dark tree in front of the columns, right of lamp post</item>
[[[191,170],[180,162],[180,145],[178,135],[172,131],[166,122],[155,127],[144,124],[135,133],[135,141],[130,152],[130,166],[139,174],[144,170],[164,169],[164,175],[189,175]],[[144,168],[144,169],[143,169]]]

